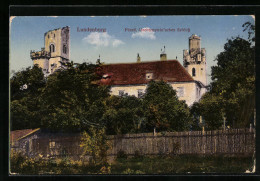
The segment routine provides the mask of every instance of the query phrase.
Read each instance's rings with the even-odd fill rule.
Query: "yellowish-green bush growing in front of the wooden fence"
[[[107,164],[107,150],[110,146],[104,128],[91,127],[88,133],[83,132],[80,147],[83,148],[83,155],[91,156],[91,164]]]

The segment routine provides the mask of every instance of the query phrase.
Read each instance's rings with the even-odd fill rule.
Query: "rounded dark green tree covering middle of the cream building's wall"
[[[158,131],[187,130],[190,122],[188,106],[179,101],[175,90],[164,81],[149,82],[144,97],[147,129]]]

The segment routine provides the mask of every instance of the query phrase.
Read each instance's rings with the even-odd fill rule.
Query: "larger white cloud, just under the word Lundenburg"
[[[83,38],[84,42],[87,42],[91,45],[99,46],[113,46],[117,47],[119,45],[124,44],[123,41],[116,39],[115,37],[109,35],[107,32],[99,33],[92,32],[87,37]]]

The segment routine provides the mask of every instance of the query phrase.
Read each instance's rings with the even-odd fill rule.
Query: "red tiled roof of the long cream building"
[[[194,81],[177,60],[121,63],[102,65],[98,74],[103,85],[147,84],[146,73],[153,73],[153,80],[167,82]]]

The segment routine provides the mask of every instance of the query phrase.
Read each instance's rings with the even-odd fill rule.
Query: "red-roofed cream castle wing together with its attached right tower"
[[[200,37],[189,38],[189,51],[184,50],[183,65],[178,60],[167,60],[164,50],[160,60],[135,63],[104,64],[101,84],[111,86],[111,94],[142,97],[151,80],[163,80],[176,90],[179,100],[188,106],[198,102],[207,91],[205,49],[200,48]]]

